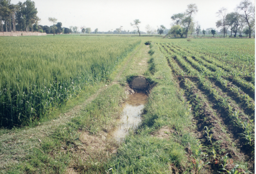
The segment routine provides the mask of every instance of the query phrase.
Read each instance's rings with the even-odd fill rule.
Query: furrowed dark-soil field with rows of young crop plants
[[[204,146],[202,152],[208,154],[206,160],[201,151],[195,153],[192,163],[210,161],[209,167],[220,172],[247,163],[254,172],[254,67],[244,68],[218,54],[178,43],[157,46],[179,83],[180,95],[191,105],[196,136]]]

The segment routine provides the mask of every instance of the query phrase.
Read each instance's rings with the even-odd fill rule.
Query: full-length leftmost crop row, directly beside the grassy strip
[[[169,58],[172,60],[172,66],[176,64],[176,67],[179,67],[178,64],[174,63],[174,60],[172,59],[172,57],[174,55],[171,56],[170,54],[168,54],[167,50],[164,46],[159,46],[159,49],[166,56],[167,61],[168,61]],[[168,64],[170,64],[169,62],[170,61],[168,61]],[[172,66],[171,66],[171,68],[172,68]],[[174,75],[176,75],[175,72],[173,72],[173,73],[174,73]],[[183,79],[180,82],[182,84],[181,87],[183,89],[185,89],[185,90],[183,90],[183,91],[185,91],[185,93],[183,93],[183,94],[186,95],[189,103],[191,104],[191,106],[194,110],[194,113],[195,113],[195,117],[199,117],[199,119],[204,120],[204,121],[207,120],[207,125],[205,125],[204,128],[203,128],[203,130],[204,129],[205,130],[204,131],[202,130],[206,134],[206,136],[203,136],[202,139],[200,139],[200,140],[205,142],[204,147],[207,147],[207,149],[205,149],[205,150],[208,151],[209,153],[212,153],[212,155],[208,156],[208,157],[206,155],[206,158],[205,158],[204,153],[201,152],[201,155],[199,155],[199,153],[198,153],[199,149],[197,149],[196,152],[195,152],[195,155],[192,156],[194,158],[193,163],[194,163],[194,165],[196,165],[197,161],[200,161],[200,160],[201,160],[201,162],[202,162],[202,160],[206,161],[204,163],[200,162],[200,164],[201,164],[200,167],[202,167],[204,164],[207,163],[208,160],[210,160],[213,163],[213,165],[219,166],[220,163],[222,163],[221,160],[220,160],[221,159],[221,157],[220,157],[221,152],[220,152],[219,148],[216,149],[217,150],[217,152],[216,152],[216,150],[214,149],[214,145],[213,145],[214,142],[212,141],[212,137],[219,136],[217,131],[214,130],[215,127],[212,125],[212,123],[216,122],[214,120],[215,116],[214,116],[213,112],[211,112],[211,110],[209,108],[209,105],[206,104],[206,100],[204,99],[204,97],[202,95],[197,94],[198,90],[193,85],[193,82],[191,82],[187,78],[184,78],[184,74],[183,74]],[[201,121],[199,121],[199,122],[201,122]],[[199,122],[197,124],[201,124]],[[226,138],[227,139],[227,137],[225,137],[225,136],[224,137],[221,136],[221,138],[224,138],[224,139]],[[202,148],[202,146],[198,147],[198,148]],[[212,149],[212,151],[210,152],[210,150],[208,150],[208,149]],[[218,155],[218,154],[220,154],[220,155]],[[220,163],[217,164],[216,160],[218,160]]]

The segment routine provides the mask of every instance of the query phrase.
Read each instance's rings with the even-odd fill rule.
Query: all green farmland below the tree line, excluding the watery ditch
[[[12,128],[0,129],[0,173],[255,172],[254,39],[56,35],[0,45],[1,125]],[[138,129],[117,142],[106,137],[134,76],[148,80],[149,97]]]

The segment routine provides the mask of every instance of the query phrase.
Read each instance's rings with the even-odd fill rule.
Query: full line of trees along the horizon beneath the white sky
[[[230,34],[242,36],[242,33],[249,35],[255,33],[255,6],[249,0],[243,0],[237,5],[235,11],[228,13],[226,8],[221,8],[216,12],[220,20],[216,22],[216,27],[220,28],[220,31],[215,28],[206,28],[202,30],[198,21],[194,20],[198,9],[196,4],[188,4],[185,12],[173,14],[171,16],[172,23],[171,29],[167,29],[165,26],[154,28],[150,25],[146,26],[146,32],[140,30],[140,20],[135,19],[131,22],[131,26],[134,27],[133,31],[126,31],[123,26],[116,28],[116,30],[109,30],[108,32],[100,32],[98,28],[94,31],[90,27],[81,26],[81,33],[87,34],[169,34],[173,37],[185,37],[192,34],[223,34],[227,37]],[[49,18],[49,21],[53,23],[52,26],[39,25],[41,19],[37,16],[37,9],[35,8],[35,2],[26,0],[24,3],[11,4],[11,0],[0,0],[0,31],[1,32],[15,32],[15,31],[40,31],[47,34],[78,34],[79,27],[69,26],[62,27],[61,22],[57,22],[55,18]]]

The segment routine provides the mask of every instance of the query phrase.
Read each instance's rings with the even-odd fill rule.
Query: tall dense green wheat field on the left
[[[119,37],[3,37],[0,126],[32,123],[109,74],[140,43]]]

